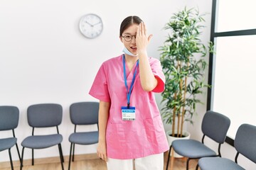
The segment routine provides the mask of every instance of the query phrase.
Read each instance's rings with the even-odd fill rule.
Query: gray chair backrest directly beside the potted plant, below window
[[[203,116],[202,132],[210,139],[223,144],[230,127],[230,119],[217,112],[207,111]]]

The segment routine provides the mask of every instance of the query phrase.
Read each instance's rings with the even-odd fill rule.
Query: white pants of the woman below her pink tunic
[[[164,153],[137,159],[107,158],[107,170],[163,170]]]

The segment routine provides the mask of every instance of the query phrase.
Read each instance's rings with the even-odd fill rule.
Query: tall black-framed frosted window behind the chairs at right
[[[255,0],[213,0],[207,109],[231,120],[233,142],[242,123],[256,125],[256,11]]]

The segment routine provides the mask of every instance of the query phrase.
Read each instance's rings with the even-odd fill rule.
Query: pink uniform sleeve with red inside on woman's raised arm
[[[164,91],[165,77],[164,77],[163,70],[161,68],[160,61],[154,59],[154,61],[151,62],[151,69],[152,69],[154,76],[156,77],[156,79],[158,81],[155,89],[153,89],[153,92],[161,93]]]

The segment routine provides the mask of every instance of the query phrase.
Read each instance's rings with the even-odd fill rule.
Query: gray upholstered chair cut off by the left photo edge
[[[14,129],[18,127],[19,111],[16,106],[0,106],[0,131],[12,130],[12,137],[0,138],[0,152],[6,149],[9,150],[9,157],[11,163],[11,169],[14,169],[14,165],[11,159],[11,147],[17,145],[17,138],[15,137]],[[18,151],[18,158],[21,161],[21,155]]]

